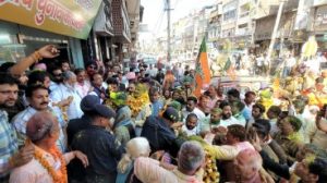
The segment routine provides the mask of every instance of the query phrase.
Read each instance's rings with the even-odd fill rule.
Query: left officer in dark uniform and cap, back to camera
[[[107,131],[113,127],[116,113],[105,105],[95,105],[90,125],[78,132],[72,142],[72,149],[81,150],[87,158],[89,166],[80,176],[86,183],[112,182],[117,176],[117,164],[124,152],[123,147]]]

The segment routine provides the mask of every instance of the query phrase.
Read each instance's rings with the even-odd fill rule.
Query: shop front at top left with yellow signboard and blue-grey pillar
[[[88,37],[100,2],[0,2],[0,64],[16,62],[44,45],[52,44],[60,49],[59,60],[84,66],[81,40]]]

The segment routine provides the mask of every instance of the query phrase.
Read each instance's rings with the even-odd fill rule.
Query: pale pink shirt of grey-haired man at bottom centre
[[[144,157],[136,159],[134,174],[144,183],[202,183],[195,176],[185,175],[178,169],[166,170],[159,166],[159,161]]]

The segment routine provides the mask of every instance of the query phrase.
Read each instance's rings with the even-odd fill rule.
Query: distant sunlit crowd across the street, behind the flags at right
[[[266,53],[230,53],[228,58],[231,61],[232,68],[235,70],[239,76],[249,75],[261,75],[267,76],[269,74],[279,74],[282,77],[291,75],[291,70],[294,66],[308,68],[313,73],[318,74],[322,65],[325,68],[327,63],[326,52],[318,52],[315,57],[311,58],[300,58],[295,57],[292,51],[284,51],[284,53],[276,59],[269,60]],[[302,59],[302,61],[300,61]],[[219,60],[221,66],[211,68],[213,73],[217,73],[225,66],[226,59]],[[301,64],[299,65],[299,63]],[[216,69],[216,70],[214,70]],[[219,72],[218,72],[219,73]],[[223,71],[221,71],[223,74]]]

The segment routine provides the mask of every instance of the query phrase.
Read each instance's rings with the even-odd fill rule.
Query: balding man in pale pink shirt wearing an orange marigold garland
[[[11,183],[68,183],[65,166],[72,159],[78,158],[84,167],[88,166],[87,157],[78,150],[64,155],[59,151],[56,146],[59,124],[51,113],[34,114],[26,124],[26,144],[35,146],[34,159],[12,171]]]

